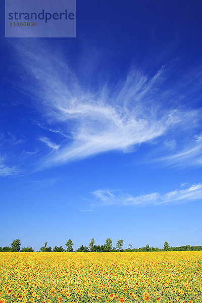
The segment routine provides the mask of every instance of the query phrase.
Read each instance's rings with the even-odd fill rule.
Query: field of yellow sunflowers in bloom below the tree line
[[[0,303],[202,302],[202,251],[0,252]]]

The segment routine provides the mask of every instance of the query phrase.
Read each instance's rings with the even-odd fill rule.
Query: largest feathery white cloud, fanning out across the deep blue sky
[[[170,88],[162,89],[177,61],[162,66],[150,77],[131,68],[117,85],[106,79],[92,87],[91,80],[89,83],[82,81],[79,73],[76,76],[71,71],[61,54],[52,52],[49,55],[46,47],[37,44],[34,52],[27,45],[16,46],[25,69],[28,67],[29,82],[35,83],[33,86],[23,82],[23,90],[26,86],[34,97],[43,118],[43,124],[38,125],[63,136],[60,144],[47,137],[40,138],[52,148],[41,160],[41,168],[105,151],[122,150],[125,153],[135,145],[169,133],[172,128],[182,130],[185,126],[191,128],[198,124],[200,110],[178,108],[175,102],[170,107],[162,106],[172,104],[175,95],[177,98],[174,87],[172,93]],[[175,140],[166,142],[169,149],[175,149]]]

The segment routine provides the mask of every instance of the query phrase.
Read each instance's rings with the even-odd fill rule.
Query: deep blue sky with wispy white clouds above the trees
[[[201,245],[201,10],[78,0],[77,38],[1,21],[0,246]]]

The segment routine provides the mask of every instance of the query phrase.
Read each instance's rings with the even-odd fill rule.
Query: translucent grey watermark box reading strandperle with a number
[[[76,37],[76,0],[5,0],[5,37]]]

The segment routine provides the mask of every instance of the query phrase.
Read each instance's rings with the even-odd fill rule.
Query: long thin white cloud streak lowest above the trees
[[[188,203],[202,199],[202,183],[191,185],[186,189],[176,189],[165,194],[153,192],[139,196],[120,190],[95,190],[92,194],[99,204],[105,206],[147,206]]]

